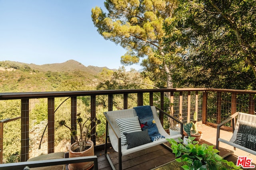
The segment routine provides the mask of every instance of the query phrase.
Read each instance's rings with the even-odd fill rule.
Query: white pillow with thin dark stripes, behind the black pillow
[[[116,119],[116,123],[121,133],[121,145],[127,144],[124,133],[141,131],[140,122],[138,116],[129,117],[124,119]]]

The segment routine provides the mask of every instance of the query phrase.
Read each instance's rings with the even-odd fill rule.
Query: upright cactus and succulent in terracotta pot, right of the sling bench
[[[190,123],[187,123],[186,125],[189,125],[189,126],[191,126],[190,127],[190,129],[184,129],[184,135],[186,136],[186,135],[188,135],[188,133],[190,134],[190,135],[188,135],[188,136],[192,136],[192,137],[195,137],[195,141],[199,141],[201,138],[202,138],[202,132],[201,131],[198,131],[197,130],[197,126],[196,126],[196,122],[197,122],[197,113],[196,113],[196,111],[194,112],[194,120],[193,121],[191,121]],[[184,125],[184,127],[186,127],[186,125]],[[191,130],[191,128],[192,128],[192,130]]]

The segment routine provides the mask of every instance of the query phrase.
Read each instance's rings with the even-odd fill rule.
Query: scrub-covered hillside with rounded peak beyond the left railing
[[[0,61],[0,92],[94,90],[104,68],[74,60],[43,65]]]

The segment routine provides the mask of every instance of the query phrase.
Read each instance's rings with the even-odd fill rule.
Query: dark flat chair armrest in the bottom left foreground
[[[54,166],[62,164],[73,164],[80,162],[94,162],[94,170],[98,170],[97,156],[82,156],[76,158],[61,158],[61,159],[49,159],[49,160],[36,160],[28,162],[15,162],[0,164],[0,170],[23,170],[25,166],[30,168],[42,167],[42,166]]]

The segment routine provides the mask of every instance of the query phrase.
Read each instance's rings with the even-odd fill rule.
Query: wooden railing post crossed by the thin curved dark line
[[[48,98],[48,154],[54,152],[54,98]]]

